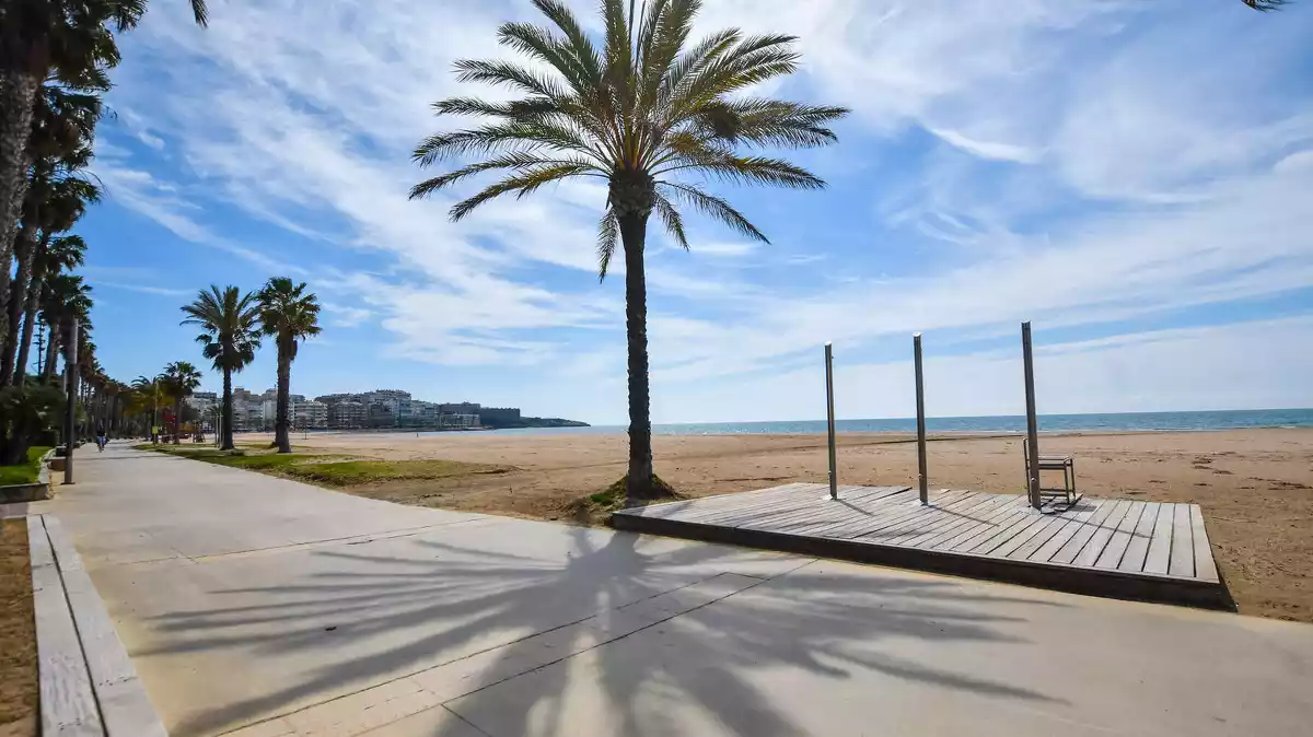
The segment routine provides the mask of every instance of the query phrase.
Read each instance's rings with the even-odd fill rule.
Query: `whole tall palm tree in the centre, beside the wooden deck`
[[[490,122],[424,139],[414,159],[429,167],[478,157],[415,185],[425,197],[467,177],[498,172],[500,181],[452,207],[460,220],[503,194],[524,197],[549,182],[596,177],[609,185],[597,236],[597,273],[605,278],[620,245],[625,264],[625,328],[629,348],[630,498],[651,498],[651,420],[647,378],[647,285],[643,247],[655,211],[688,248],[676,205],[692,207],[743,236],[765,236],[727,201],[689,176],[734,184],[821,189],[825,182],[783,159],[741,153],[752,148],[806,148],[832,143],[829,123],[843,108],[804,105],[744,94],[752,85],[792,73],[792,35],[743,35],[722,30],[688,45],[701,0],[603,0],[599,49],[561,0],[533,0],[554,29],[511,22],[499,41],[542,64],[457,62],[458,79],[506,85],[523,97],[488,102],[456,97],[433,104],[439,115],[482,115]]]

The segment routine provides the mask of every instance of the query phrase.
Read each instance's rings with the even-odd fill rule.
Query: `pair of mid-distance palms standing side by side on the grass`
[[[222,437],[223,450],[232,450],[232,374],[240,372],[260,348],[261,336],[273,337],[278,351],[277,421],[274,446],[278,452],[291,452],[289,401],[291,362],[299,344],[319,334],[319,299],[306,291],[306,283],[274,277],[259,291],[244,292],[235,286],[211,285],[196,300],[183,306],[184,325],[202,329],[197,336],[201,354],[223,374]],[[193,387],[194,388],[194,387]],[[176,434],[175,434],[176,437]]]

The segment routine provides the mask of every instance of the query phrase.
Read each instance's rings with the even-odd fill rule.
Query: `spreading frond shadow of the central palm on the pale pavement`
[[[894,577],[878,569],[836,574],[804,567],[783,577],[742,577],[748,588],[733,597],[671,614],[632,633],[599,637],[587,626],[597,620],[595,614],[635,611],[696,582],[687,574],[692,568],[705,568],[708,574],[701,580],[709,580],[752,555],[721,546],[649,543],[651,539],[630,534],[572,528],[563,563],[424,538],[400,543],[415,546],[416,551],[407,552],[423,551],[423,557],[345,547],[318,551],[311,555],[330,559],[331,570],[276,588],[221,593],[257,593],[260,603],[156,618],[154,626],[165,644],[150,652],[244,648],[253,649],[259,661],[336,647],[343,657],[274,691],[188,717],[171,733],[223,732],[294,711],[324,691],[340,692],[344,683],[355,691],[356,685],[365,688],[435,665],[462,662],[478,673],[458,690],[437,694],[440,700],[460,696],[462,715],[494,715],[498,734],[567,734],[563,719],[574,656],[586,656],[596,665],[590,687],[604,695],[616,720],[612,732],[626,737],[680,732],[667,709],[654,708],[653,699],[678,699],[744,736],[804,734],[746,678],[759,667],[790,666],[834,679],[851,678],[861,669],[994,698],[1062,700],[882,656],[873,648],[885,639],[945,644],[1022,640],[1001,631],[1016,619],[990,614],[987,606],[1008,599],[972,597],[952,582]],[[330,620],[339,623],[334,644],[324,639]],[[415,636],[397,637],[398,632]],[[597,641],[617,633],[621,636]],[[343,644],[343,637],[353,644]],[[559,648],[559,657],[544,656],[545,637]],[[347,654],[361,652],[360,657]],[[691,653],[697,657],[687,657]],[[716,656],[710,665],[708,653]],[[696,666],[691,665],[695,660]],[[513,703],[507,703],[507,690],[495,686],[525,673],[530,675],[516,679]]]

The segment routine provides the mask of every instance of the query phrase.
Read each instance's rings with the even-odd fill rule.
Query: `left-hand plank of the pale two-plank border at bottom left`
[[[41,733],[104,737],[91,674],[41,517],[28,518],[28,546],[34,553],[32,603],[37,623]]]

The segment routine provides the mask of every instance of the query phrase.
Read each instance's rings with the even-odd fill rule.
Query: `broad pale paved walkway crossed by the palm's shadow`
[[[175,737],[1296,734],[1313,627],[110,446],[51,511]]]

